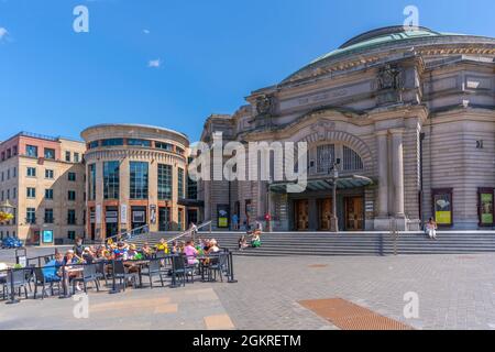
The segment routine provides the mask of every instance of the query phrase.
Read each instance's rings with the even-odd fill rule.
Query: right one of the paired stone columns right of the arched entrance
[[[404,218],[404,129],[391,130],[392,133],[392,178],[394,185],[394,216]]]

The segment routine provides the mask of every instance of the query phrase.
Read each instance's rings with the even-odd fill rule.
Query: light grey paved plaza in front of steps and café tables
[[[1,302],[0,329],[338,329],[299,304],[328,298],[415,329],[495,329],[495,254],[234,261],[237,284],[91,290],[88,318],[70,298]],[[419,298],[417,319],[404,317],[407,293]]]

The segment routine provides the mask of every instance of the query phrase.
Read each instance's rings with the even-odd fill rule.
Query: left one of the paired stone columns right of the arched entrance
[[[376,133],[378,154],[378,217],[388,217],[388,131]]]

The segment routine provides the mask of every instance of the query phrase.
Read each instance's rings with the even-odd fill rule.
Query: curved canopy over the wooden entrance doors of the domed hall
[[[366,176],[352,175],[339,178],[337,180],[338,189],[350,189],[373,185],[373,180]],[[333,179],[320,178],[308,179],[306,188],[299,186],[297,183],[274,183],[270,185],[270,190],[277,194],[287,193],[287,187],[290,188],[290,193],[304,193],[304,191],[318,191],[318,190],[332,190]]]

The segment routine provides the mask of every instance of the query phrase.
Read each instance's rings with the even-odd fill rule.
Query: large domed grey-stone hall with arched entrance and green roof
[[[345,231],[415,230],[430,217],[494,228],[495,38],[373,30],[246,101],[208,118],[201,140],[307,142],[309,180],[301,193],[284,180],[201,182],[218,228],[270,213],[274,230],[328,231],[333,202]]]

